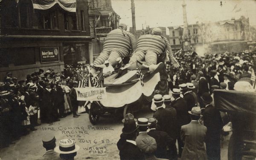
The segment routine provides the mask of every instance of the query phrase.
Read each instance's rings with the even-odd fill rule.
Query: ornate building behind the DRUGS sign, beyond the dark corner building
[[[96,33],[97,28],[116,29],[119,26],[120,16],[114,12],[111,0],[88,0],[89,8],[89,22],[90,22],[90,36],[92,40],[93,57],[97,57],[103,49],[103,43],[107,33],[101,35]],[[99,22],[96,23],[96,21]],[[108,31],[110,31],[108,29]]]

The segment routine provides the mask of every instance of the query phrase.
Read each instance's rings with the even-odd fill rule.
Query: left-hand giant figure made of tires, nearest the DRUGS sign
[[[116,58],[125,57],[130,51],[135,51],[137,42],[133,34],[126,32],[126,24],[121,23],[118,29],[109,32],[103,44],[103,50],[93,62],[93,65],[104,64],[105,60],[114,67]]]

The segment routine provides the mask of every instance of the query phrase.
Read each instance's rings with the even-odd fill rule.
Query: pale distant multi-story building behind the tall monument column
[[[169,42],[174,50],[182,47],[183,26],[170,26]],[[189,42],[193,48],[210,47],[212,52],[239,52],[246,46],[235,44],[250,41],[249,18],[224,20],[213,23],[196,23],[188,25]],[[231,42],[231,43],[227,43]],[[223,45],[222,45],[223,44]],[[233,47],[232,47],[233,46]]]

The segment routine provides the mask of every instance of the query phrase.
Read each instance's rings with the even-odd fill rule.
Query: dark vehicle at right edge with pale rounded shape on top
[[[227,112],[231,118],[228,160],[256,158],[256,92],[247,90],[250,85],[243,85],[245,83],[236,82],[238,90],[214,90],[215,107]],[[227,126],[224,126],[224,131]]]

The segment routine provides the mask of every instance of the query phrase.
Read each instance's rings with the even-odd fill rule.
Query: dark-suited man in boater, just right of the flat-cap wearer
[[[172,150],[173,145],[175,145],[176,139],[172,139],[166,132],[157,130],[157,119],[154,117],[149,118],[148,122],[151,123],[149,126],[148,135],[153,137],[157,142],[157,151],[155,152],[155,156],[157,158],[165,158],[165,159],[171,159],[175,158],[173,155],[173,152],[176,151],[176,157],[177,157],[177,150]],[[175,146],[176,149],[176,146]]]

